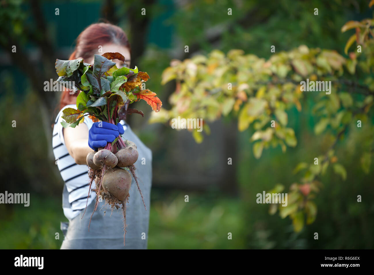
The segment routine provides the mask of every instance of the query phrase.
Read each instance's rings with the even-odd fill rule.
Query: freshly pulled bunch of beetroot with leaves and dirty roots
[[[62,111],[64,114],[62,118],[65,119],[65,122],[61,122],[62,126],[76,127],[86,116],[93,122],[104,121],[114,125],[120,120],[125,120],[128,114],[138,113],[143,116],[142,111],[128,108],[129,104],[140,99],[145,100],[154,111],[160,110],[162,103],[156,94],[148,89],[142,89],[142,83],[149,79],[148,74],[138,71],[137,67],[117,68],[111,59],[125,62],[125,58],[119,53],[95,55],[93,64],[87,64],[83,59],[56,59],[55,67],[59,75],[56,81],[62,85],[73,86],[74,91],[80,91],[77,96],[77,109],[66,108]],[[135,175],[134,163],[137,159],[136,144],[129,140],[123,141],[121,135],[112,143],[107,143],[104,148],[99,148],[98,152],[88,153],[86,158],[90,178],[87,201],[93,190],[96,192],[93,213],[97,209],[99,198],[104,199],[111,206],[112,211],[114,208],[122,207],[125,226],[124,245],[126,202],[129,198],[132,177],[143,199]],[[93,181],[95,181],[95,188],[92,188]]]

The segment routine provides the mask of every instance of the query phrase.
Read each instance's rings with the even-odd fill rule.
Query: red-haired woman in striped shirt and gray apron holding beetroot
[[[75,51],[69,59],[83,58],[86,63],[92,64],[94,54],[105,52],[119,52],[125,56],[126,66],[130,66],[131,48],[123,30],[107,23],[92,24],[79,34]],[[114,59],[113,62],[116,62],[117,68],[124,66],[124,63],[118,59]],[[62,208],[69,220],[61,249],[147,248],[149,210],[144,209],[134,178],[126,207],[126,246],[123,246],[122,210],[114,209],[112,213],[110,207],[104,206],[104,201],[99,202],[97,210],[93,213],[88,231],[96,193],[90,194],[87,210],[83,216],[89,194],[87,154],[97,150],[97,147],[104,147],[107,142],[113,142],[119,134],[122,134],[123,140],[134,141],[139,152],[138,161],[135,162],[136,173],[141,179],[140,187],[145,205],[149,209],[152,153],[123,120],[118,125],[103,122],[102,127],[98,127],[99,122],[93,123],[86,117],[84,122],[75,128],[63,128],[62,110],[68,107],[77,109],[78,94],[79,91],[62,92],[60,111],[53,128],[53,153],[65,182]],[[64,231],[63,228],[61,229]]]

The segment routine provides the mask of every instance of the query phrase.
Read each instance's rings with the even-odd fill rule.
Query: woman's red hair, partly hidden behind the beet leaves
[[[98,52],[98,47],[105,44],[114,43],[125,46],[131,52],[129,40],[125,32],[115,25],[109,23],[95,23],[89,25],[77,37],[77,44],[74,52],[70,55],[69,60],[82,57],[83,59],[91,58]],[[59,110],[66,105],[74,104],[78,92],[71,93],[71,90],[64,89],[59,102]]]

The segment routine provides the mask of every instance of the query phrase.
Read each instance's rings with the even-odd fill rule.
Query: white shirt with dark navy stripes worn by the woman
[[[67,105],[59,111],[55,120],[55,125],[53,126],[52,146],[56,164],[61,173],[61,177],[65,182],[62,208],[65,217],[71,220],[79,215],[79,210],[86,208],[87,196],[89,193],[89,177],[88,166],[76,164],[74,159],[69,155],[65,146],[64,135],[62,132],[64,127],[61,125],[61,122],[65,121],[62,118],[62,110],[65,108],[77,109],[77,106],[75,104]],[[90,129],[93,124],[92,120],[88,117],[85,117],[83,123],[87,125],[88,129]],[[124,120],[121,121],[121,124],[125,125]],[[123,127],[125,131],[126,128],[127,126]],[[91,187],[95,188],[95,182],[92,183]],[[88,199],[88,205],[95,199],[95,197],[96,193],[92,192]]]

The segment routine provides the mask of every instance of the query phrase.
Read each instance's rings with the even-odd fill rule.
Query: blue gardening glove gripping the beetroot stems
[[[99,127],[101,126],[101,127]],[[108,122],[95,122],[88,131],[88,146],[94,151],[98,147],[105,147],[108,142],[113,142],[116,137],[125,132],[121,123],[114,125]]]

